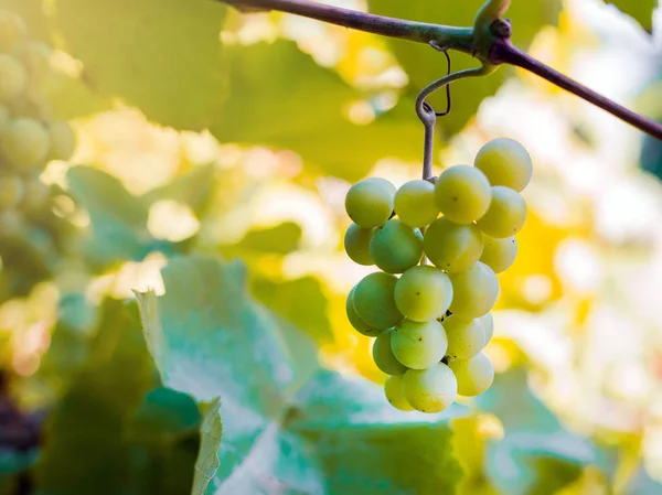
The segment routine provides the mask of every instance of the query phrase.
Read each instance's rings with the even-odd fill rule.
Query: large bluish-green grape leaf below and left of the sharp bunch
[[[163,381],[197,399],[221,397],[218,471],[205,491],[220,422],[201,450],[207,469],[194,494],[453,491],[461,473],[445,420],[463,408],[395,411],[376,385],[321,370],[306,334],[253,301],[238,262],[186,256],[162,276],[166,295],[139,302]]]

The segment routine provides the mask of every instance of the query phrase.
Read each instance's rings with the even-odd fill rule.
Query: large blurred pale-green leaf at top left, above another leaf
[[[223,101],[225,13],[206,0],[57,0],[64,41],[95,93],[178,129],[204,129]]]

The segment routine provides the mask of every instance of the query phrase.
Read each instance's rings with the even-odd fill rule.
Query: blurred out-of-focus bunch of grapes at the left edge
[[[20,15],[0,9],[0,299],[47,277],[68,227],[40,180],[49,161],[68,160],[75,148],[71,126],[53,118],[45,96],[51,52],[29,39]]]

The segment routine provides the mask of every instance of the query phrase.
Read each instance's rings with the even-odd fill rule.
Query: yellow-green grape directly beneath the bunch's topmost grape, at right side
[[[526,220],[526,203],[516,191],[503,185],[492,187],[488,213],[478,220],[487,235],[503,239],[517,234]]]

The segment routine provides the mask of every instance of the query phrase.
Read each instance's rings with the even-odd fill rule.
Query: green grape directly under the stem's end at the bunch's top
[[[426,227],[435,222],[439,215],[435,185],[423,179],[403,184],[395,193],[395,213],[410,227]]]

